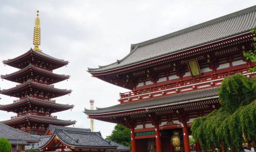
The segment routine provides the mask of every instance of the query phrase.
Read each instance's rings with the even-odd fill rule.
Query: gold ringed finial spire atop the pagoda
[[[35,25],[34,25],[34,39],[33,39],[33,44],[34,44],[34,50],[38,52],[42,52],[42,50],[39,49],[40,46],[40,19],[39,19],[39,11],[36,11],[36,20],[35,20]]]

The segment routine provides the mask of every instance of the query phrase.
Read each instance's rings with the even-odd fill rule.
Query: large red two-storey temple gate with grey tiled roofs
[[[132,44],[122,60],[88,68],[93,77],[131,91],[120,93],[117,105],[84,112],[129,127],[132,152],[188,152],[193,120],[220,108],[222,80],[236,73],[255,76],[248,72],[255,64],[243,56],[253,49],[255,28],[253,6]]]

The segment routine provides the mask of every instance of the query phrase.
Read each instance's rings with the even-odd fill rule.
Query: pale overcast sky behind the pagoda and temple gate
[[[41,46],[45,54],[68,60],[67,67],[54,72],[71,78],[55,84],[56,88],[73,90],[56,98],[58,103],[74,104],[73,110],[54,113],[58,119],[76,120],[75,127],[90,128],[83,113],[95,106],[119,104],[119,92],[128,90],[92,78],[87,68],[96,68],[121,60],[130,45],[172,33],[256,4],[254,0],[81,0],[81,1],[11,1],[0,0],[0,60],[20,56],[33,48],[36,10],[40,11]],[[157,50],[156,50],[157,51]],[[0,64],[0,74],[18,69]],[[11,88],[14,82],[0,81],[0,87]],[[0,104],[15,98],[0,94]],[[0,111],[0,121],[15,115]],[[110,135],[115,124],[95,121],[95,130]]]

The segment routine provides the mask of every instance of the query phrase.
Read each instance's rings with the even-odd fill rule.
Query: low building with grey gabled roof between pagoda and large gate
[[[90,129],[61,127],[49,125],[45,136],[41,136],[40,143],[26,146],[26,150],[40,151],[104,151],[129,152],[129,147],[103,139],[100,132]]]

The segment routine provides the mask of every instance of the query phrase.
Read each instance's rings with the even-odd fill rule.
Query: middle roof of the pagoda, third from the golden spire
[[[25,94],[22,94],[23,92],[27,92],[27,95],[30,95],[35,91],[48,94],[48,98],[56,98],[58,96],[71,93],[71,90],[54,88],[53,86],[39,84],[38,82],[34,82],[32,80],[28,80],[27,82],[19,84],[13,88],[3,89],[0,91],[0,93],[7,96],[22,98],[23,96],[26,96]]]

